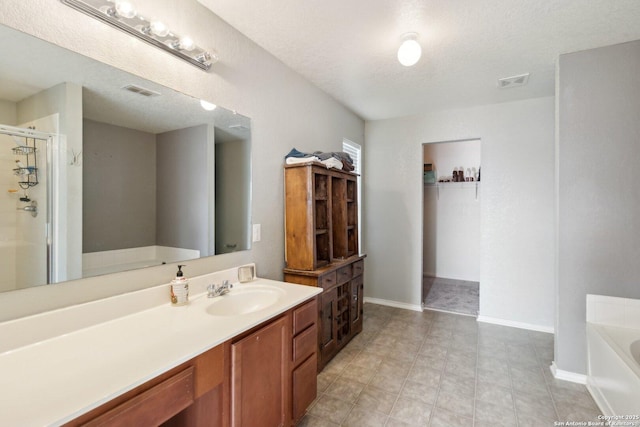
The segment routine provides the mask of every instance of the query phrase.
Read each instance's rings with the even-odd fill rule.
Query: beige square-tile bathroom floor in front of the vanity
[[[364,328],[318,375],[300,425],[553,426],[597,421],[586,388],[553,378],[553,335],[474,317],[364,306]]]

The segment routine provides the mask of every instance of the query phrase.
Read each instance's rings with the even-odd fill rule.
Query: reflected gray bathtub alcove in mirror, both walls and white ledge
[[[212,128],[84,120],[83,277],[214,255]]]

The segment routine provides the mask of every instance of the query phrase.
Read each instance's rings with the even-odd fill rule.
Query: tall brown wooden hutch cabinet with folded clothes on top
[[[318,371],[362,331],[357,194],[354,173],[317,163],[285,166],[284,280],[324,290],[318,299]]]

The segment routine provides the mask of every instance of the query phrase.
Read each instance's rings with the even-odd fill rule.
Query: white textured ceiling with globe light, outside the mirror
[[[368,120],[550,96],[559,54],[640,39],[640,0],[198,2]],[[408,31],[411,68],[396,60]]]

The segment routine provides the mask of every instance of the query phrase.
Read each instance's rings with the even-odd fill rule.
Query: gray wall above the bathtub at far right
[[[640,41],[560,56],[555,359],[586,373],[586,294],[640,298]]]

